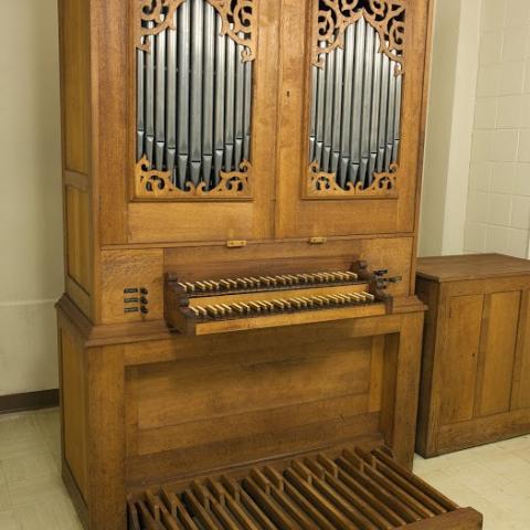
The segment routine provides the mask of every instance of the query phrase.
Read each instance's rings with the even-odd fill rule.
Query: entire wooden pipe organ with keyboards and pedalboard
[[[60,0],[63,478],[87,529],[478,529],[411,475],[428,0]]]

